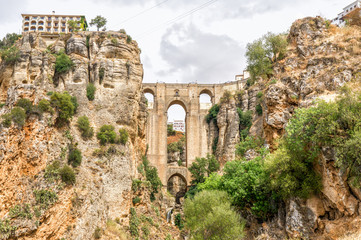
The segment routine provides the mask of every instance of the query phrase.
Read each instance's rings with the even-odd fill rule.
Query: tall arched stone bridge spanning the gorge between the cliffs
[[[154,97],[154,103],[148,106],[148,159],[157,167],[164,186],[173,176],[181,177],[189,185],[191,174],[187,168],[196,157],[205,157],[211,152],[212,144],[207,142],[208,124],[205,120],[211,105],[200,104],[200,95],[208,94],[213,105],[219,102],[225,91],[236,92],[243,89],[244,84],[245,80],[224,84],[143,83],[143,92]],[[181,105],[186,112],[186,167],[167,163],[167,112],[174,104]]]

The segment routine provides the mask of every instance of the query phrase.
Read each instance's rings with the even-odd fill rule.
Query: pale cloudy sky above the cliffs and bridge
[[[21,13],[108,19],[142,49],[144,82],[221,83],[246,67],[246,44],[286,32],[307,16],[333,19],[351,0],[0,0],[0,37],[21,31]],[[95,30],[95,28],[91,28]]]

